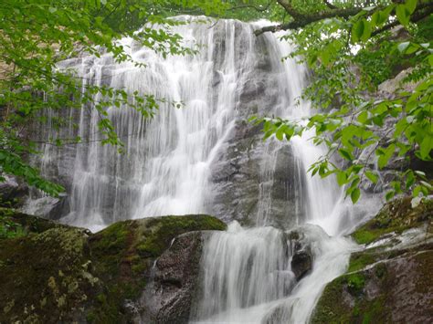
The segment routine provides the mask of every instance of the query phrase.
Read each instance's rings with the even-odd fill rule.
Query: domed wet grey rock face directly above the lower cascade
[[[261,126],[246,121],[236,124],[232,139],[212,167],[212,213],[242,225],[260,224],[260,214],[266,213],[267,225],[290,228],[305,214],[307,191],[301,162],[290,146],[263,143],[262,136]]]

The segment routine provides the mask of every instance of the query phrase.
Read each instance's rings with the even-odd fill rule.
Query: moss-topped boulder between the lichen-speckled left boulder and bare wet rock
[[[135,317],[133,303],[149,283],[153,263],[174,237],[200,230],[225,230],[208,215],[164,216],[115,223],[90,236],[95,272],[104,282],[90,308],[90,322],[119,322]]]

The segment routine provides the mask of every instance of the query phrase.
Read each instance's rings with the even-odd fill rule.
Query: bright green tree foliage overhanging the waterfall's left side
[[[133,62],[118,40],[131,37],[143,47],[163,56],[186,55],[193,49],[181,45],[181,37],[170,27],[181,24],[167,19],[173,9],[220,13],[226,7],[219,0],[4,0],[0,4],[0,177],[13,174],[26,183],[56,195],[61,186],[43,179],[26,162],[37,154],[37,145],[28,136],[35,120],[54,126],[55,120],[43,110],[80,109],[83,105],[98,110],[102,143],[121,148],[108,107],[129,106],[152,117],[159,100],[152,94],[123,89],[83,87],[74,71],[60,70],[58,61],[88,53],[99,57],[110,53],[116,62]],[[148,24],[144,26],[144,24]],[[153,26],[158,26],[157,28]],[[144,26],[138,32],[138,27]],[[95,94],[100,94],[95,101]],[[51,139],[61,144],[60,139]],[[70,141],[80,141],[72,139]],[[2,180],[2,179],[0,179]],[[4,179],[3,179],[4,180]]]

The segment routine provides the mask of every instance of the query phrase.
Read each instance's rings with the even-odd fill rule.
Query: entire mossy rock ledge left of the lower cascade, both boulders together
[[[130,322],[129,301],[141,297],[175,236],[226,229],[199,214],[124,221],[96,234],[11,210],[0,210],[0,222],[16,230],[0,238],[1,323]]]

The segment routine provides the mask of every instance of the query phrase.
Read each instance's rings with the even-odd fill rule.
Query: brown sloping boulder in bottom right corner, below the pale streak
[[[428,323],[433,245],[344,275],[323,292],[312,323]]]

